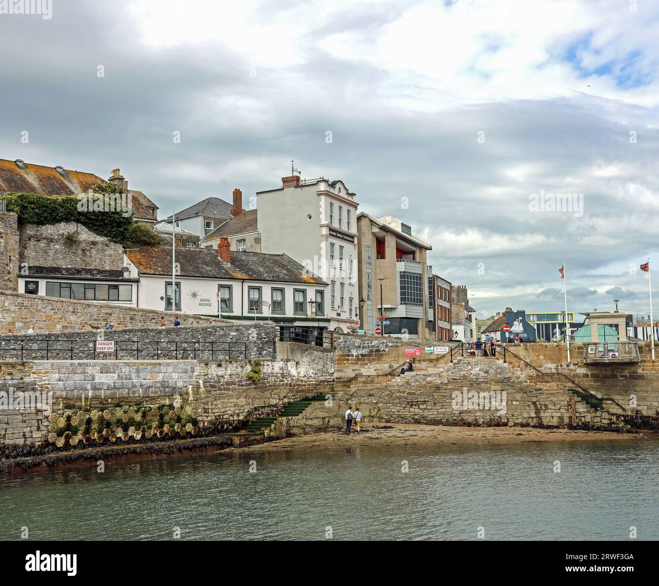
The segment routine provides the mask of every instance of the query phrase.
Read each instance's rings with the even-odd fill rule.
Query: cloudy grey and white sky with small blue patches
[[[647,314],[658,24],[649,0],[53,0],[0,15],[0,158],[121,167],[163,218],[295,159],[410,223],[484,315],[561,310],[563,261],[571,310]]]

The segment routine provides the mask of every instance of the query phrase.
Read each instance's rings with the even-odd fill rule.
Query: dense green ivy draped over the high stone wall
[[[126,203],[121,207],[123,188],[114,183],[99,183],[92,187],[92,193],[92,206],[84,198],[68,195],[10,192],[2,200],[7,202],[7,212],[15,212],[21,223],[50,225],[74,221],[125,248],[162,243],[152,229],[127,214]]]

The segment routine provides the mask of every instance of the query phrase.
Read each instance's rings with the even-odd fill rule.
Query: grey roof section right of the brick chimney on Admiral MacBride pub
[[[242,216],[243,214],[241,214]],[[231,266],[256,281],[327,285],[287,254],[231,251]]]

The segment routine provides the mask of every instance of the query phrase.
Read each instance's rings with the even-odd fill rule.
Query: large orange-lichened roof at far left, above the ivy
[[[94,173],[82,171],[57,171],[55,167],[0,159],[0,193],[18,191],[42,195],[77,195],[88,191],[97,183],[105,183]]]

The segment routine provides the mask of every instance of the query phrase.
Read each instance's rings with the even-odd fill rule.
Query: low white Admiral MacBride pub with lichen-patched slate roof
[[[228,319],[270,319],[326,329],[328,283],[286,254],[176,248],[172,307],[171,247],[142,247],[125,255],[128,274],[139,279],[137,307]],[[219,307],[218,307],[219,306]]]

